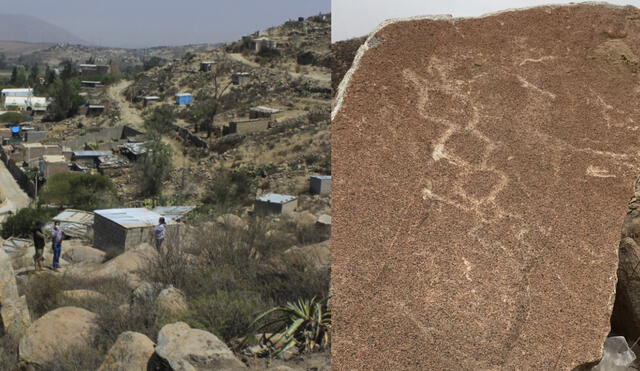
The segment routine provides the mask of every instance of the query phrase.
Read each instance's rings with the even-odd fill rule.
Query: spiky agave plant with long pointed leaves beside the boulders
[[[275,317],[260,324],[272,314]],[[256,317],[251,327],[259,332],[272,326],[276,326],[277,332],[264,338],[272,356],[294,347],[301,353],[326,348],[331,345],[329,299],[300,299],[296,303],[289,302],[284,307],[271,308]]]

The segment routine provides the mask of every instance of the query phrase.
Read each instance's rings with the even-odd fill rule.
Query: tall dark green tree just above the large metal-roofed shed
[[[145,147],[147,151],[136,167],[140,191],[144,196],[158,196],[162,190],[162,182],[171,173],[171,147],[158,138],[147,142]]]

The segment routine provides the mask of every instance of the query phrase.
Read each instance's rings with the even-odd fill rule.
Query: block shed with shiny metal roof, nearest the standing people
[[[93,246],[102,251],[129,250],[153,243],[153,228],[162,217],[145,208],[104,209],[94,213]],[[166,219],[166,223],[167,231],[176,225],[171,219]]]

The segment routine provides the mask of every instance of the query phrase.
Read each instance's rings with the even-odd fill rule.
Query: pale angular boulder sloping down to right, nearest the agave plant
[[[158,333],[156,354],[174,371],[242,370],[246,366],[210,332],[192,329],[184,322],[165,325]]]

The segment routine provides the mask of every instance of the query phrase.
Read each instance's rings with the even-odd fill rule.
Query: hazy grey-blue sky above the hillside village
[[[233,41],[330,9],[331,0],[0,0],[2,13],[33,15],[83,40],[124,47]]]

